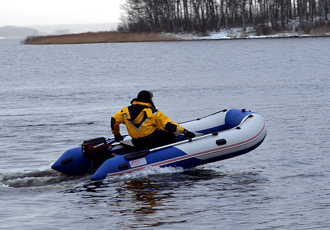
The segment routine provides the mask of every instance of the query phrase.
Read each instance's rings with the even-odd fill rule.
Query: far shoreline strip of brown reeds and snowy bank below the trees
[[[297,34],[278,33],[257,36],[246,32],[212,33],[207,36],[195,34],[165,34],[165,33],[119,33],[119,32],[88,32],[81,34],[28,36],[21,44],[50,45],[50,44],[89,44],[89,43],[121,43],[121,42],[160,42],[160,41],[191,41],[191,40],[228,40],[228,39],[256,39],[256,38],[302,38],[328,37],[329,33]]]

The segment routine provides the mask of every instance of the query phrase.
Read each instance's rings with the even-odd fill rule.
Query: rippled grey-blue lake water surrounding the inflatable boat
[[[328,229],[329,41],[0,40],[0,228]],[[50,169],[84,139],[112,136],[112,114],[144,89],[175,122],[259,112],[266,139],[189,170],[91,182]]]

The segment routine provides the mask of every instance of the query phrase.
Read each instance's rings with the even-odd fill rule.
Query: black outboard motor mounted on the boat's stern
[[[93,161],[94,170],[97,170],[105,160],[113,157],[111,146],[108,146],[104,137],[84,140],[81,144],[81,150],[83,157]]]

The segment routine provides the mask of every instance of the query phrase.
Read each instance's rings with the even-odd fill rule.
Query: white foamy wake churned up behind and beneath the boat
[[[68,176],[55,171],[50,166],[42,166],[33,170],[11,170],[0,172],[0,190],[22,188],[33,191],[58,190],[58,192],[80,191],[78,188],[95,184],[109,185],[116,182],[144,180],[146,178],[159,178],[165,180],[199,180],[217,175],[213,170],[205,170],[204,166],[189,169],[182,167],[146,167],[143,170],[131,172],[121,176],[91,182],[92,174],[83,176]],[[219,175],[218,175],[219,176]],[[167,179],[166,179],[167,178]],[[209,179],[209,178],[208,178]]]

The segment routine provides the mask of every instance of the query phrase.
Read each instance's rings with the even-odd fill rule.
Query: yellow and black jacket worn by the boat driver
[[[153,104],[139,101],[132,101],[131,104],[111,117],[112,134],[119,133],[119,124],[126,125],[132,138],[148,136],[157,129],[183,133],[184,127],[170,121]]]

